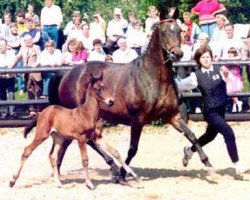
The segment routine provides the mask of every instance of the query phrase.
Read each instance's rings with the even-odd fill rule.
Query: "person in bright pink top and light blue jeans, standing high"
[[[206,32],[211,39],[216,27],[215,14],[225,10],[224,5],[217,0],[200,0],[192,8],[192,13],[199,16],[201,32]]]

